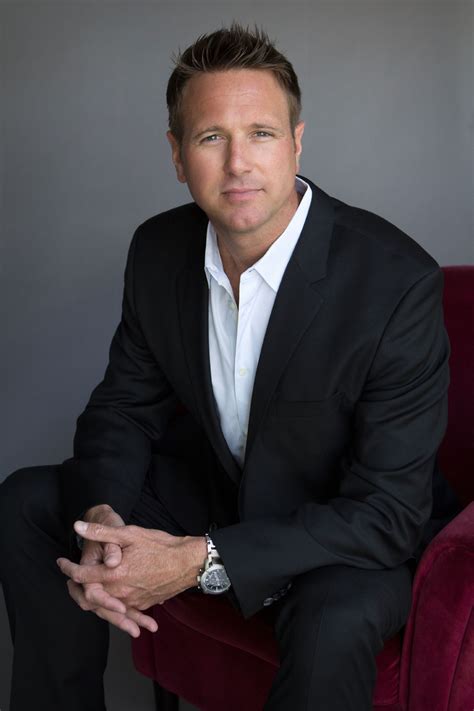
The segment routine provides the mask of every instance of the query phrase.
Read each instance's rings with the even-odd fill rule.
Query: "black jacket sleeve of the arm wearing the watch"
[[[245,617],[313,568],[391,568],[413,555],[430,516],[447,422],[442,280],[440,269],[419,278],[386,324],[355,405],[338,495],[213,532]]]

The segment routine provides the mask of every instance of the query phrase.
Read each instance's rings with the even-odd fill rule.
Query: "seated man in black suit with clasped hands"
[[[442,275],[296,176],[298,81],[264,33],[201,37],[167,100],[194,203],[135,233],[74,457],[1,488],[11,711],[103,709],[106,622],[155,632],[196,585],[274,605],[267,711],[369,711],[432,511]]]

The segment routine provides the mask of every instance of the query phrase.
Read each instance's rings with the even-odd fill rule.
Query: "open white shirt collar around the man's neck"
[[[290,261],[290,257],[296,243],[298,242],[308,215],[309,207],[311,205],[312,190],[308,183],[302,178],[296,176],[295,188],[298,193],[303,196],[295,214],[291,218],[284,232],[282,232],[282,234],[267,249],[263,257],[246,270],[246,272],[250,272],[255,269],[255,271],[260,274],[262,279],[266,281],[268,286],[270,286],[275,292],[278,291],[283,274],[288,266],[288,262]],[[225,286],[225,284],[228,283],[227,275],[222,266],[219,247],[217,245],[216,231],[210,221],[207,225],[204,271],[209,287],[211,285],[211,276],[214,277],[220,286]]]

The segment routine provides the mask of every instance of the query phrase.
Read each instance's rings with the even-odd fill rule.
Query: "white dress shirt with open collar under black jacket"
[[[285,231],[240,276],[239,306],[222,266],[216,232],[207,227],[204,269],[209,285],[209,358],[223,435],[243,467],[255,372],[283,273],[303,229],[311,188],[296,178],[303,198]]]

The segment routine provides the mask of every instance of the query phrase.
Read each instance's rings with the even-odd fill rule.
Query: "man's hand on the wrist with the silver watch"
[[[104,546],[104,551],[107,544],[114,546],[107,549],[113,554],[114,565],[109,565],[105,557],[103,562],[96,559],[90,564],[84,564],[81,560],[80,565],[59,558],[57,562],[61,571],[75,585],[99,585],[101,602],[110,605],[113,599],[127,610],[146,610],[193,587],[206,558],[204,537],[171,536],[164,531],[125,526],[123,523],[114,527],[76,521],[74,527],[84,539]],[[121,560],[117,564],[118,550]],[[109,609],[108,612],[112,611]],[[122,613],[114,607],[112,614]],[[110,620],[110,616],[107,619]]]

